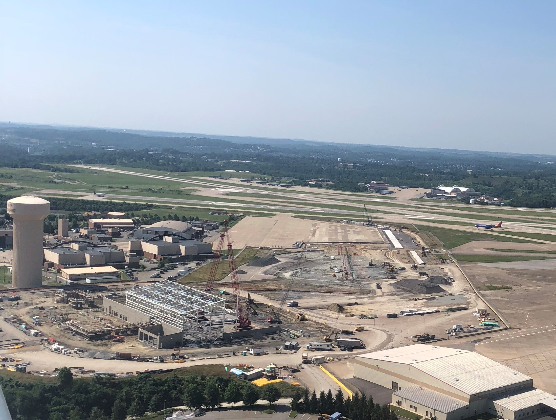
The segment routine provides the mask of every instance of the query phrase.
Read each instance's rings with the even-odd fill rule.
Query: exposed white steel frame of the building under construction
[[[151,322],[179,328],[183,338],[214,341],[222,337],[225,300],[201,290],[163,280],[126,291],[126,306],[149,315]]]

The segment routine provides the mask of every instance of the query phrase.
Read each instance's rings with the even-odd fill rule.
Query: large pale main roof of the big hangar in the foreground
[[[356,357],[409,364],[469,395],[531,380],[478,353],[436,345],[408,345]]]

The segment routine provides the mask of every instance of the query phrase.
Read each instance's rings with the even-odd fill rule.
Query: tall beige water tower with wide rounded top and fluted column
[[[12,287],[41,287],[43,220],[50,213],[50,202],[39,197],[16,197],[8,200],[7,210],[13,218]]]

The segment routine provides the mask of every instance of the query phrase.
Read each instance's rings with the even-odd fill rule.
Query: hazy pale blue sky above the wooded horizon
[[[556,154],[555,12],[0,0],[0,120]]]

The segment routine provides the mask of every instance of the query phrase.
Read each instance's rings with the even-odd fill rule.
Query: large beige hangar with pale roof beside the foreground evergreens
[[[518,420],[556,412],[533,378],[469,350],[415,344],[356,355],[354,377],[393,389],[392,405],[433,420]]]

